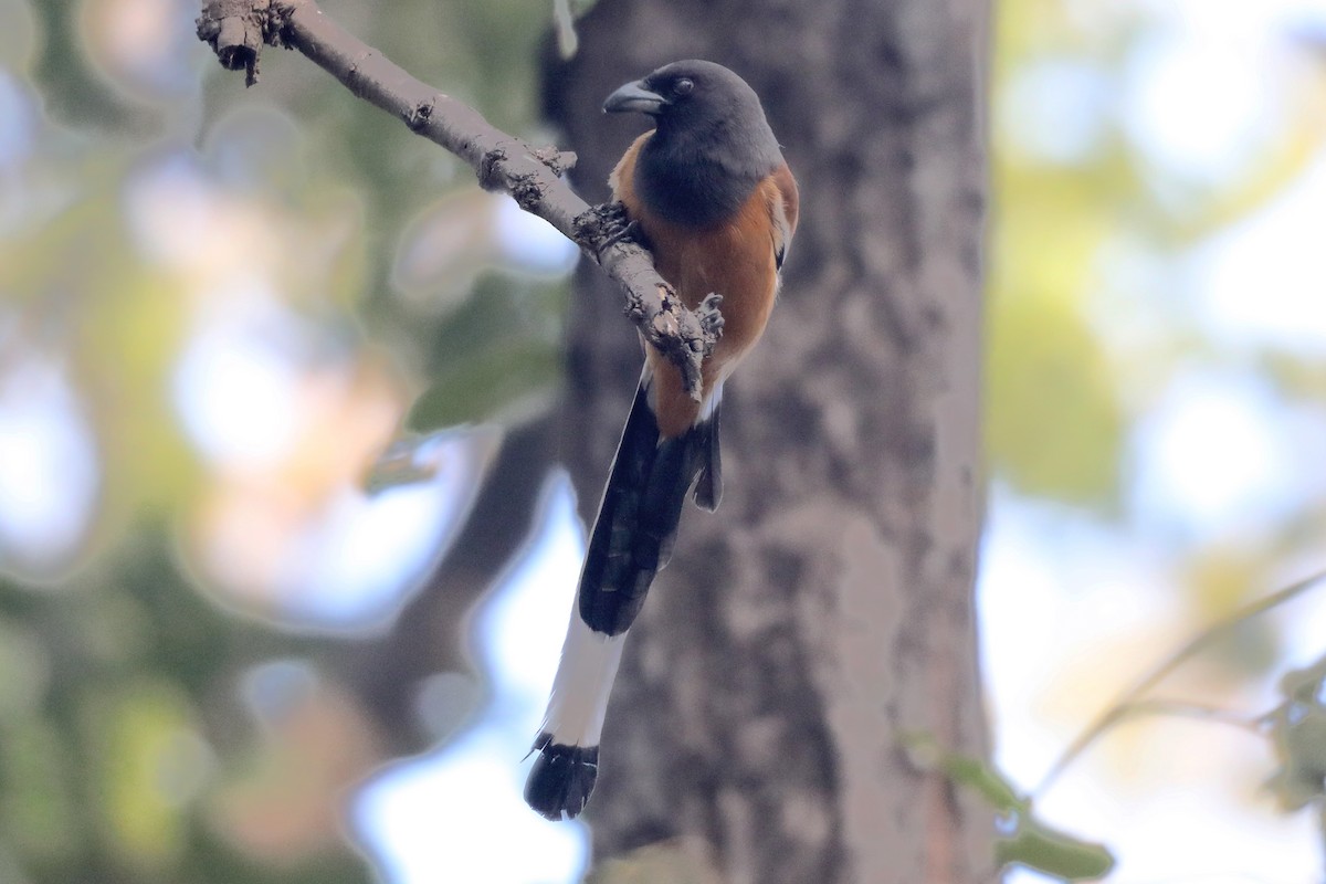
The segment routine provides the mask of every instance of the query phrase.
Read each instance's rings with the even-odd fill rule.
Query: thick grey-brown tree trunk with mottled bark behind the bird
[[[549,113],[590,200],[675,58],[747,77],[801,183],[764,343],[728,384],[725,496],[690,509],[631,631],[589,807],[597,854],[705,843],[729,884],[975,881],[991,819],[899,749],[985,754],[980,514],[984,0],[601,0]],[[639,370],[597,272],[564,456],[591,517]]]

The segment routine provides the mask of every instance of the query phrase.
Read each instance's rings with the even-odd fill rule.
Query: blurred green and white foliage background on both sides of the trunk
[[[322,5],[556,138],[545,0]],[[1326,0],[997,5],[996,761],[1110,880],[1321,880],[1257,721],[1321,592],[1042,779],[1326,570]],[[583,543],[521,456],[574,252],[302,57],[245,90],[196,15],[0,0],[0,884],[578,880],[520,801]]]

